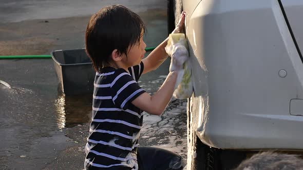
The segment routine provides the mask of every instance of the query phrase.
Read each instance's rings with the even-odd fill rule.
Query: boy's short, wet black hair
[[[141,32],[146,28],[140,16],[122,5],[102,8],[93,14],[85,33],[85,48],[96,71],[105,67],[111,53],[117,49],[127,54],[129,47],[140,43]]]

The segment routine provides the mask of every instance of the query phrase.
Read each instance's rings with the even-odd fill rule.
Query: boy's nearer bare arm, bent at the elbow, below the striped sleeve
[[[169,72],[156,94],[150,96],[145,92],[132,100],[131,103],[149,114],[161,115],[172,98],[177,76],[178,71]]]

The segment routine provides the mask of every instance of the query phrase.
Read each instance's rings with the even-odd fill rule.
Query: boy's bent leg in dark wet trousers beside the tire
[[[138,147],[139,170],[181,170],[185,161],[174,152],[157,147]]]

